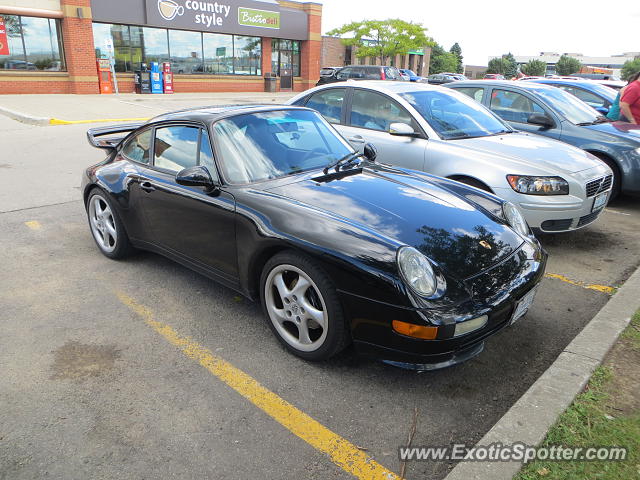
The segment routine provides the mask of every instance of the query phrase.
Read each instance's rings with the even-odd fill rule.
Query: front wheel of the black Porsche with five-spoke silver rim
[[[265,265],[262,307],[280,342],[306,360],[326,360],[349,342],[333,282],[311,259],[282,252]]]

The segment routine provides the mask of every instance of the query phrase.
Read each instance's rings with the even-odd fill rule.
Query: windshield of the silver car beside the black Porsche
[[[511,131],[502,120],[462,93],[422,90],[401,93],[400,96],[447,140],[486,137]]]

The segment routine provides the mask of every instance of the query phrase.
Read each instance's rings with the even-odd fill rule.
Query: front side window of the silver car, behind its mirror
[[[390,98],[367,90],[353,91],[352,126],[388,132],[394,122],[406,123],[417,129],[409,112]]]

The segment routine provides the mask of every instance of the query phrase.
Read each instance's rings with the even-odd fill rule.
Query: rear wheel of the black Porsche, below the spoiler
[[[93,239],[100,251],[109,258],[124,258],[133,247],[118,216],[117,210],[106,193],[95,189],[87,200],[87,218]]]

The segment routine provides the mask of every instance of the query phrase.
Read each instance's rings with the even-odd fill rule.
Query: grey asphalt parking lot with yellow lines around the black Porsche
[[[416,409],[413,445],[474,444],[640,265],[640,200],[623,197],[541,237],[550,276],[532,310],[470,362],[308,363],[231,290],[154,254],[99,253],[79,200],[101,159],[86,128],[0,117],[0,479],[352,478],[362,457],[397,474]],[[296,429],[307,416],[326,430]],[[340,440],[362,457],[332,454]]]

